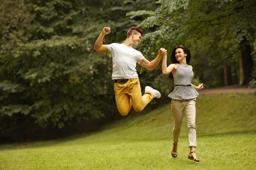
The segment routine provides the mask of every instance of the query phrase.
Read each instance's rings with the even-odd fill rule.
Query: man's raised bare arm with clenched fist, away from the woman
[[[94,50],[98,51],[100,53],[108,53],[108,45],[102,45],[103,44],[103,38],[105,37],[106,34],[109,34],[110,28],[109,27],[105,27],[103,28],[102,32],[100,33],[98,39],[95,42],[94,45]]]

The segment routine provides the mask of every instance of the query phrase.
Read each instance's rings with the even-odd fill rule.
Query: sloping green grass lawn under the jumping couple
[[[0,145],[0,170],[253,170],[255,94],[197,98],[197,156],[189,154],[186,117],[172,158],[171,105],[135,112],[101,131],[68,139]]]

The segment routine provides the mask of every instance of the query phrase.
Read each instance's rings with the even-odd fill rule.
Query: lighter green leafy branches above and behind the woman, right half
[[[256,49],[255,0],[159,0],[157,4],[155,11],[127,14],[131,18],[146,15],[139,26],[156,28],[145,34],[138,48],[147,58],[151,59],[157,48],[166,48],[170,56],[176,45],[186,45],[195,76],[205,85],[224,85],[224,63],[232,69],[233,84],[238,84],[239,58],[249,57],[240,54],[243,40]]]

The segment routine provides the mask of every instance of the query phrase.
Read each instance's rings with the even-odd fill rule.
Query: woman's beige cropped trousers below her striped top
[[[174,127],[172,130],[173,142],[179,142],[180,130],[182,126],[183,111],[185,110],[189,128],[189,147],[196,147],[196,126],[195,126],[195,100],[175,100],[172,99],[172,115]]]

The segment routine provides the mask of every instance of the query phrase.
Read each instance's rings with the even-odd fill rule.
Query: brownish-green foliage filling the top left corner
[[[0,55],[15,48],[19,42],[31,37],[29,30],[33,15],[26,11],[21,1],[2,0],[0,4]]]

